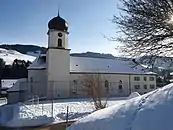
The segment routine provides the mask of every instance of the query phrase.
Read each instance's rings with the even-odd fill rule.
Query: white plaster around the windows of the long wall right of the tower
[[[82,77],[85,74],[71,74],[70,81],[71,86],[70,90],[73,91],[75,89],[75,85],[73,83],[74,80],[78,81],[80,84]],[[155,75],[129,75],[129,74],[101,74],[102,79],[109,81],[109,95],[110,96],[128,96],[131,92],[139,92],[144,94],[146,92],[150,92],[154,89],[151,89],[149,85],[153,84],[156,86],[156,77]],[[140,77],[140,81],[134,81],[134,77]],[[147,81],[143,80],[143,77],[147,77]],[[154,81],[149,81],[149,77],[154,77]],[[120,80],[122,81],[122,90],[119,89]],[[78,94],[84,94],[80,91],[80,85],[77,85],[77,90],[79,90]],[[140,85],[140,89],[135,89],[134,85]],[[147,84],[147,89],[144,89],[143,85]],[[72,92],[71,92],[72,94]],[[84,94],[85,95],[85,94]]]

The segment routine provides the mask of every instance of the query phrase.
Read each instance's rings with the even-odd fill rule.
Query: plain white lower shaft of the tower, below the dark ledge
[[[69,95],[70,54],[66,49],[49,49],[47,51],[48,88],[54,90],[54,96]],[[53,82],[53,83],[51,83]],[[51,93],[52,90],[48,90]]]

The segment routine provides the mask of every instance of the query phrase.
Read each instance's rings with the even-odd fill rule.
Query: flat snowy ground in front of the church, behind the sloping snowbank
[[[125,98],[111,98],[108,101],[108,107],[118,106],[125,101]],[[6,126],[33,126],[50,123],[53,120],[54,122],[64,122],[67,118],[67,107],[69,108],[68,120],[80,119],[95,110],[89,99],[56,100],[53,107],[51,102],[30,105],[18,103],[0,107],[0,124]]]

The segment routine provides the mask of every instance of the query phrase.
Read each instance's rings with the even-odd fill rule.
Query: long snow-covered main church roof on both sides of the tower
[[[45,69],[46,61],[38,57],[28,69]],[[135,66],[132,61],[121,59],[103,59],[70,56],[71,73],[122,73],[122,74],[156,74],[141,65]]]

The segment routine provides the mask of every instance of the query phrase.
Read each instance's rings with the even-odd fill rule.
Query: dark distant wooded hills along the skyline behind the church
[[[16,50],[17,52],[20,52],[22,54],[27,54],[30,56],[36,57],[38,55],[38,51],[41,53],[46,52],[45,47],[40,47],[36,45],[22,45],[22,44],[15,44],[15,45],[0,45],[0,48],[4,48],[7,50]],[[71,56],[77,56],[77,57],[92,57],[92,58],[108,58],[108,59],[114,59],[114,58],[119,58],[119,59],[125,59],[129,60],[128,58],[122,58],[122,57],[115,57],[111,54],[104,54],[104,53],[95,53],[95,52],[85,52],[85,53],[71,53]],[[143,57],[145,60],[143,62],[140,62],[141,64],[148,66],[149,61],[147,59],[150,59],[150,57]],[[166,69],[166,70],[173,70],[173,58],[172,57],[157,57],[157,60],[153,63],[154,67],[159,68],[159,69]]]

